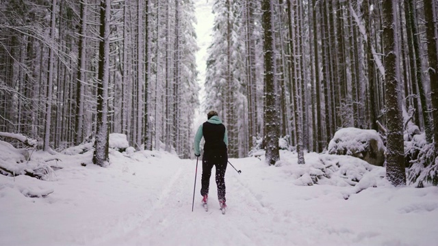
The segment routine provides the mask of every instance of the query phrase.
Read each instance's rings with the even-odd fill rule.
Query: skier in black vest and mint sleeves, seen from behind
[[[199,143],[204,137],[203,174],[201,178],[202,203],[207,210],[208,191],[211,169],[216,166],[216,184],[218,185],[218,200],[222,213],[225,213],[225,171],[228,163],[228,136],[227,128],[222,124],[216,111],[207,113],[207,121],[199,126],[194,137],[194,155],[201,156]]]

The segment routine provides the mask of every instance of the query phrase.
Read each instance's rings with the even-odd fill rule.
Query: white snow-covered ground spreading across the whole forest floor
[[[350,156],[310,153],[305,154],[307,163],[298,165],[295,154],[281,152],[276,167],[264,164],[263,156],[230,159],[242,174],[228,166],[229,208],[222,215],[214,174],[209,212],[201,206],[201,161],[192,212],[196,159],[111,150],[110,166],[98,167],[89,164],[92,151],[66,153],[73,155],[32,153],[31,159],[59,159],[47,162],[60,168],[51,181],[0,175],[0,245],[437,245],[438,241],[437,187],[391,187],[381,178],[383,167]]]

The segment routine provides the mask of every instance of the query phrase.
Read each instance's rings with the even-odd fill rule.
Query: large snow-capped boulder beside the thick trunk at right
[[[342,128],[329,143],[329,154],[355,156],[372,165],[383,166],[385,146],[374,130]]]

